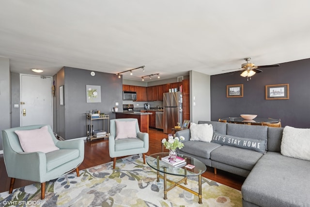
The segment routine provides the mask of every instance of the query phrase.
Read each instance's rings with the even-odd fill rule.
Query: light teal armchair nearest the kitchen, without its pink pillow
[[[136,121],[136,137],[117,139],[116,138],[116,123],[117,121]],[[124,118],[124,119],[111,119],[110,120],[110,136],[109,136],[109,155],[113,158],[113,169],[115,169],[116,159],[135,154],[142,154],[145,164],[145,153],[149,151],[149,134],[140,132],[138,119]]]

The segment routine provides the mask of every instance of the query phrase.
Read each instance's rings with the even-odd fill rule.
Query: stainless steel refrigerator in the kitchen
[[[182,93],[164,93],[164,133],[172,133],[171,128],[183,123],[182,119]]]

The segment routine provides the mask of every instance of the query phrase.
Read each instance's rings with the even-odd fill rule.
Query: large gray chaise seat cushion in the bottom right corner
[[[309,172],[310,161],[267,152],[243,183],[242,197],[262,207],[309,206]]]

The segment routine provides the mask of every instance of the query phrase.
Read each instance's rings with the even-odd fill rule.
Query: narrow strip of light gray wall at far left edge
[[[10,60],[8,58],[0,58],[0,131],[11,127],[10,89]],[[0,150],[2,150],[2,133],[0,137]]]

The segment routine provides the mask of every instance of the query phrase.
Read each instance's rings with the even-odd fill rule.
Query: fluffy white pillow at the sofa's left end
[[[213,137],[213,127],[208,124],[195,124],[191,123],[190,127],[190,139],[192,141],[203,141],[210,143]]]

